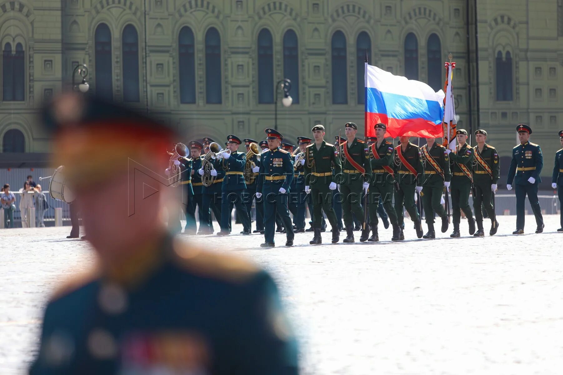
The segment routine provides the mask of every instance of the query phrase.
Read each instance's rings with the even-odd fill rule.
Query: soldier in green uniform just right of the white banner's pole
[[[450,237],[459,237],[461,235],[459,233],[461,210],[463,210],[467,217],[469,234],[473,235],[475,233],[475,219],[469,206],[469,193],[473,185],[472,161],[475,153],[473,153],[473,148],[466,143],[466,130],[459,129],[455,131],[455,137],[457,138],[458,145],[455,147],[454,153],[452,154],[452,150],[448,149],[450,164],[452,164],[450,167],[452,170],[452,189],[450,191],[452,192],[452,216],[454,222],[454,231],[450,234]]]

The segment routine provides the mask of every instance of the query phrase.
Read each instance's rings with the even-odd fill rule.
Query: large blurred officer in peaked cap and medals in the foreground
[[[297,374],[270,276],[173,238],[159,220],[176,188],[149,172],[164,175],[173,133],[74,93],[44,114],[97,262],[48,302],[30,373]],[[145,196],[143,184],[158,191]]]

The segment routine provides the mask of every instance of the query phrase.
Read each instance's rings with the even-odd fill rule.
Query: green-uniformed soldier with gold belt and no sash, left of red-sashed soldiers
[[[313,203],[313,229],[315,235],[310,244],[320,244],[323,211],[332,226],[332,243],[337,243],[340,230],[332,208],[332,191],[336,189],[334,177],[341,173],[340,160],[334,145],[324,141],[324,126],[315,125],[311,129],[315,143],[307,146],[305,155],[305,192],[311,194]],[[334,169],[333,169],[334,167]],[[334,173],[334,175],[333,175]]]

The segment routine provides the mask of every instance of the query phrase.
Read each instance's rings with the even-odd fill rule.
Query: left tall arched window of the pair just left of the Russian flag
[[[332,103],[348,104],[346,37],[338,30],[332,34]]]

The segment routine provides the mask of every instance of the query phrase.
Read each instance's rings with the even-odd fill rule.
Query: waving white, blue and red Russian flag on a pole
[[[365,136],[383,123],[386,137],[442,137],[443,103],[444,91],[365,63]]]

